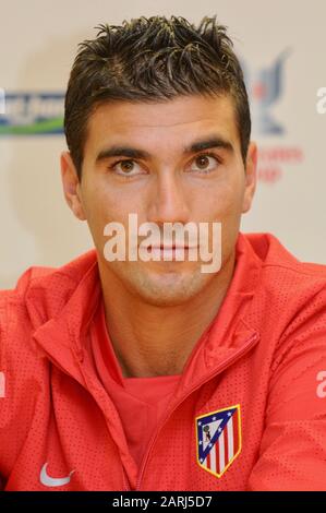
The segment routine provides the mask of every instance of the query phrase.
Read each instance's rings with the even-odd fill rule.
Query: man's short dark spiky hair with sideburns
[[[80,179],[87,121],[96,107],[114,100],[230,94],[245,164],[251,134],[247,94],[233,43],[216,16],[205,16],[197,27],[182,16],[141,16],[95,28],[97,37],[79,45],[64,105],[67,144]]]

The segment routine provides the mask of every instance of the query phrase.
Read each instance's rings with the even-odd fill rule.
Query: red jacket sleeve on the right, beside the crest
[[[249,490],[326,490],[326,289],[282,337]]]

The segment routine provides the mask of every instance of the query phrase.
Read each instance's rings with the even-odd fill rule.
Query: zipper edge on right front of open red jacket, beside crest
[[[204,383],[206,383],[207,381],[209,381],[210,379],[213,379],[214,377],[216,377],[217,374],[219,374],[220,372],[222,372],[227,367],[229,367],[236,359],[240,358],[241,356],[243,356],[244,353],[246,353],[253,345],[254,343],[256,342],[256,338],[257,338],[257,333],[254,333],[245,343],[245,346],[241,349],[241,351],[237,353],[236,355],[231,356],[230,358],[228,358],[227,360],[225,360],[222,363],[220,363],[220,366],[214,370],[214,372],[212,372],[210,374],[206,375],[206,378],[201,381],[200,383],[197,383],[195,386],[193,386],[193,389],[191,389],[186,395],[184,395],[182,398],[180,398],[180,401],[173,406],[173,408],[166,415],[165,419],[161,421],[159,428],[156,430],[155,434],[153,436],[149,444],[148,444],[148,449],[147,449],[147,452],[145,454],[145,457],[144,457],[144,461],[143,461],[143,464],[142,464],[142,467],[141,467],[141,472],[140,472],[140,477],[138,477],[138,480],[136,482],[136,488],[135,488],[135,491],[140,491],[141,489],[141,482],[142,482],[142,479],[143,479],[143,476],[144,476],[144,473],[145,473],[145,467],[146,467],[146,464],[147,464],[147,461],[148,461],[148,457],[149,457],[149,454],[152,452],[152,449],[156,442],[156,439],[159,434],[159,431],[161,430],[161,428],[164,427],[164,425],[167,422],[167,420],[171,417],[171,415],[176,411],[177,408],[179,408],[180,404],[183,403],[183,401],[185,401],[195,390],[197,390],[200,386],[202,386]],[[123,469],[124,472],[124,469]],[[131,490],[131,489],[130,489]]]

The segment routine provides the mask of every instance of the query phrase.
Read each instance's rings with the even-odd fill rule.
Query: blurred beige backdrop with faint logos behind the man
[[[77,44],[99,23],[217,14],[229,27],[251,98],[258,188],[242,231],[269,231],[302,261],[326,263],[326,3],[274,0],[0,0],[0,288],[31,265],[93,247],[61,192],[63,99]],[[2,108],[1,108],[2,105]],[[4,111],[3,111],[4,110]]]

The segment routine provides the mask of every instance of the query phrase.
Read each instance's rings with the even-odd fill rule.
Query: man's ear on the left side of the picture
[[[60,156],[61,164],[61,179],[63,186],[63,193],[69,207],[74,215],[85,220],[85,212],[81,200],[81,183],[77,176],[76,168],[72,162],[70,152],[62,152]]]

